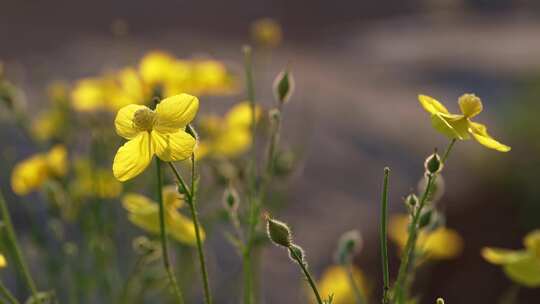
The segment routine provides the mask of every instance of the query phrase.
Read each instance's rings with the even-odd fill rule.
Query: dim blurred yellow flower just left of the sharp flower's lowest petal
[[[115,198],[122,193],[122,184],[110,170],[95,168],[88,159],[77,159],[74,169],[75,179],[70,186],[76,196]]]

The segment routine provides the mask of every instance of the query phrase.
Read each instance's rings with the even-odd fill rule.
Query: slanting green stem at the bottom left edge
[[[19,271],[22,273],[26,285],[32,293],[32,297],[34,299],[38,299],[38,290],[36,288],[36,283],[34,282],[34,279],[32,278],[30,271],[28,270],[28,267],[22,255],[22,251],[19,248],[19,243],[17,242],[17,237],[15,236],[15,229],[13,228],[11,216],[9,215],[9,210],[7,208],[7,204],[2,192],[0,192],[0,209],[2,211],[2,221],[4,222],[4,227],[6,229],[9,244],[12,247],[13,252],[15,253],[15,263],[17,265],[17,268],[19,268]]]

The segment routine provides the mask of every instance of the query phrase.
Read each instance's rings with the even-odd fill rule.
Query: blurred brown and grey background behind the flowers
[[[510,281],[482,259],[481,248],[521,248],[523,236],[540,227],[537,1],[3,0],[0,60],[6,77],[24,90],[32,115],[47,106],[51,82],[70,83],[134,65],[155,49],[178,57],[208,55],[242,77],[241,46],[251,43],[250,25],[262,17],[281,24],[283,42],[271,52],[255,51],[257,100],[272,104],[271,83],[283,67],[289,66],[296,78],[283,142],[301,161],[278,187],[284,205],[279,218],[293,228],[314,274],[333,263],[338,237],[359,229],[364,246],[355,264],[378,299],[383,167],[392,169],[391,213],[404,212],[403,197],[417,187],[425,157],[447,144],[431,128],[417,94],[436,97],[456,112],[457,98],[475,93],[484,103],[477,120],[512,151],[457,143],[443,173],[446,191],[439,206],[447,225],[463,237],[464,250],[456,259],[423,268],[415,288],[421,303],[438,296],[447,303],[497,303]],[[241,91],[201,99],[201,111],[220,111],[244,98]],[[28,223],[46,225],[37,216],[45,214],[45,207],[39,196],[17,197],[8,185],[14,162],[37,147],[12,124],[1,126],[1,187],[24,243],[30,239]],[[111,221],[129,226],[123,216],[118,211]],[[130,231],[118,231],[115,244],[129,247],[136,235]],[[220,233],[212,234],[206,246],[217,302],[237,303],[228,295],[241,272],[240,260]],[[395,276],[397,247],[392,244],[390,251]],[[38,251],[30,260],[33,269],[40,267]],[[283,250],[266,247],[262,261],[262,303],[306,302],[305,290],[298,288],[301,276]],[[182,265],[176,271],[181,273]],[[193,294],[200,292],[198,283]],[[24,293],[22,286],[14,288]],[[519,303],[540,302],[538,289],[523,288],[519,296]]]

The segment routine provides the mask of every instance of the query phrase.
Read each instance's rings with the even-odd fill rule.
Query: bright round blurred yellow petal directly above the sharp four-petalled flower
[[[174,58],[161,51],[153,51],[141,59],[139,72],[143,80],[150,84],[161,84],[170,75],[170,68],[174,63]]]

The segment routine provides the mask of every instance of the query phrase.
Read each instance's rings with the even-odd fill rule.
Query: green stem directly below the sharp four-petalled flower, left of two
[[[176,277],[173,273],[173,270],[171,268],[171,262],[169,261],[169,252],[168,252],[168,244],[167,244],[167,231],[165,227],[165,206],[163,204],[163,179],[161,175],[161,161],[159,158],[156,157],[156,173],[157,173],[157,195],[158,195],[158,203],[159,203],[159,230],[160,230],[160,239],[161,239],[161,249],[163,254],[163,266],[165,267],[165,271],[167,272],[167,275],[169,277],[170,284],[173,287],[174,295],[176,297],[176,301],[180,304],[184,303],[184,298],[182,296],[182,292],[180,291],[180,287],[178,286],[178,283],[176,282]]]

